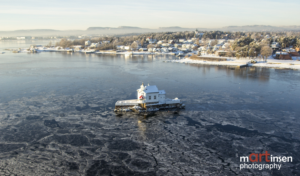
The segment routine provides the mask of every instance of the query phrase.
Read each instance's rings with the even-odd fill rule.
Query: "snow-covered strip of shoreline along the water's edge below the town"
[[[68,51],[68,52],[82,52],[82,53],[96,53],[96,54],[132,54],[132,55],[142,55],[142,54],[172,54],[172,55],[178,55],[179,52],[149,52],[149,51],[122,51],[122,52],[116,52],[113,50],[108,51],[95,51],[95,50],[72,50],[69,48],[66,49],[60,49],[58,47],[36,47],[32,48],[31,50],[27,50],[26,48],[21,48],[17,50],[18,52],[49,52],[49,51]],[[196,53],[193,52],[193,53]],[[189,53],[192,54],[192,53]],[[202,57],[218,57],[214,55],[204,55]],[[186,64],[205,64],[205,65],[229,65],[229,66],[241,66],[245,65],[250,62],[250,59],[236,59],[236,57],[224,57],[227,59],[227,61],[205,61],[205,60],[193,60],[189,58],[183,58],[183,59],[175,59],[175,60],[167,60],[164,62],[176,62],[176,63],[186,63]],[[296,59],[299,59],[298,57],[292,57],[292,60],[278,60],[273,59],[273,57],[269,57],[267,59],[267,62],[262,61],[262,59],[255,59],[257,61],[256,64],[249,64],[248,66],[254,66],[254,67],[268,67],[268,68],[286,68],[286,69],[293,69],[293,70],[300,70],[300,61],[297,61]]]

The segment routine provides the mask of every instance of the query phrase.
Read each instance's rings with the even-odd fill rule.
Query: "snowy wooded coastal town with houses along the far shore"
[[[199,32],[196,29],[176,33],[145,33],[139,36],[82,35],[76,38],[61,38],[60,42],[55,44],[49,42],[46,46],[31,45],[30,48],[7,50],[33,53],[65,51],[95,54],[171,54],[177,56],[177,59],[165,62],[231,65],[238,68],[259,66],[300,69],[298,33],[283,35],[270,32]],[[16,39],[26,40],[35,37],[24,36]]]

